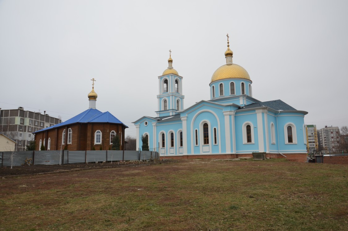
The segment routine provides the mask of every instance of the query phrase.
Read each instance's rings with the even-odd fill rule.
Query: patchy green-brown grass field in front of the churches
[[[347,165],[181,160],[0,179],[0,230],[348,230]]]

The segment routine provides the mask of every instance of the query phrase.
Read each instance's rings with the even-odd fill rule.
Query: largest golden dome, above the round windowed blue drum
[[[214,72],[211,83],[221,79],[248,79],[250,80],[250,76],[248,72],[241,66],[237,64],[225,64]]]

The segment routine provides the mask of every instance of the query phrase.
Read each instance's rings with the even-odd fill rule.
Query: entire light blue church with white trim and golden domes
[[[235,158],[262,152],[305,162],[307,112],[281,100],[253,98],[250,76],[232,62],[232,55],[227,40],[226,64],[211,78],[210,100],[188,108],[183,108],[183,77],[173,69],[169,55],[168,68],[158,77],[157,117],[133,122],[137,147],[147,136],[150,150],[165,158]]]

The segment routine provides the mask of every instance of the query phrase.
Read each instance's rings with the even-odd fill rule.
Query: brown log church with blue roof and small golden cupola
[[[109,111],[101,112],[96,109],[97,93],[94,91],[94,78],[92,91],[88,94],[89,108],[71,119],[41,129],[35,134],[35,150],[40,150],[41,145],[45,150],[89,151],[111,150],[112,139],[120,138],[120,150],[125,147],[125,124],[114,117]]]

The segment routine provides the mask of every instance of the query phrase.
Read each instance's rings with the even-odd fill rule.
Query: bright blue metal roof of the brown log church
[[[50,126],[48,128],[44,128],[41,129],[39,131],[33,132],[33,133],[37,133],[37,132],[42,132],[42,131],[46,131],[49,129],[53,129],[53,128],[58,128],[61,126],[66,126],[69,124],[74,124],[74,123],[115,123],[115,124],[123,124],[121,121],[118,120],[118,118],[114,117],[109,111],[106,112],[101,112],[100,110],[97,109],[92,109],[89,108],[87,110],[85,110],[84,112],[78,114],[77,116],[72,117],[71,119]],[[126,126],[125,124],[123,124],[126,128],[128,128],[128,126]]]

